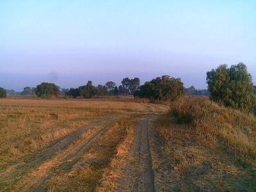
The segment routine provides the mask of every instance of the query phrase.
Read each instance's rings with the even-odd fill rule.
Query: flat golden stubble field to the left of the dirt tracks
[[[0,100],[0,164],[25,156],[109,113],[142,111],[136,102]]]

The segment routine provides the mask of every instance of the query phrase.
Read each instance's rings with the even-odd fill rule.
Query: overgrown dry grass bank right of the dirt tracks
[[[206,97],[173,102],[170,113],[157,122],[162,150],[152,152],[152,164],[159,173],[170,170],[156,172],[157,189],[255,191],[255,116]]]

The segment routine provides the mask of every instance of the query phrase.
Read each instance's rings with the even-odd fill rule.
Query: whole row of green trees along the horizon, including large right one
[[[194,86],[184,88],[180,78],[170,76],[156,77],[140,86],[140,79],[125,77],[120,86],[113,81],[105,85],[93,86],[92,81],[78,88],[61,89],[54,83],[41,83],[35,88],[27,86],[20,95],[33,95],[38,97],[51,97],[52,95],[66,95],[69,97],[92,98],[95,95],[134,95],[134,97],[151,100],[176,100],[182,95],[210,95],[210,99],[224,106],[256,111],[256,86],[252,83],[252,76],[244,63],[220,65],[207,72],[207,90],[196,90]],[[6,90],[0,88],[0,97],[6,97]]]

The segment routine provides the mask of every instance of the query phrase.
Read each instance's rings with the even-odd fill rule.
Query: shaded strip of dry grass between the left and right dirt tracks
[[[118,152],[118,145],[124,140],[129,121],[134,116],[122,118],[104,134],[84,157],[83,166],[75,165],[70,172],[60,171],[48,181],[54,191],[95,191],[102,174],[106,172],[111,159]]]

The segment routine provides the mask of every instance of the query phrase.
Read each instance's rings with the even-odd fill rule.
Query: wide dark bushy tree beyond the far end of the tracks
[[[184,84],[180,78],[170,76],[157,77],[140,86],[140,90],[134,92],[134,97],[145,97],[156,100],[176,100],[184,95]]]

